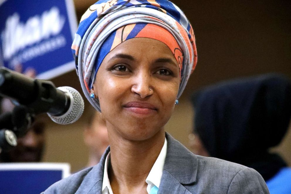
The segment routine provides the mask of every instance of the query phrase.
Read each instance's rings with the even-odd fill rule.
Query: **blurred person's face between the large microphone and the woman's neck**
[[[108,133],[105,120],[102,114],[90,107],[90,114],[87,126],[84,129],[84,142],[89,148],[87,167],[99,163],[101,156],[109,146]]]

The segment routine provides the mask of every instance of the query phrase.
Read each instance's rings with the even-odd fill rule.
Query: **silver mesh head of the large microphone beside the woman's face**
[[[58,124],[70,124],[76,122],[82,115],[84,111],[84,100],[80,93],[68,86],[58,87],[58,89],[62,90],[63,92],[67,92],[70,96],[70,108],[67,112],[61,116],[53,116],[48,114],[48,116]]]

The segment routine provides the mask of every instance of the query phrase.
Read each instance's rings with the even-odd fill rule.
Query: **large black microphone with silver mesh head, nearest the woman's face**
[[[3,67],[0,95],[25,105],[34,114],[46,112],[58,124],[77,121],[84,110],[84,100],[74,88],[56,88],[51,81],[33,79]]]

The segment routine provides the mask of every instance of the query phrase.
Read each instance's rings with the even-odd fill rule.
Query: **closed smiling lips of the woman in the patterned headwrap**
[[[136,114],[151,114],[157,111],[157,108],[152,104],[138,101],[128,102],[125,104],[124,108]]]

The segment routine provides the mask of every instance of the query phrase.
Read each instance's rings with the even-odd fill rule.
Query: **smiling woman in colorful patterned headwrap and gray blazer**
[[[84,94],[106,120],[99,164],[45,193],[268,193],[245,166],[190,153],[164,126],[197,62],[192,27],[169,1],[98,1],[72,45]]]

